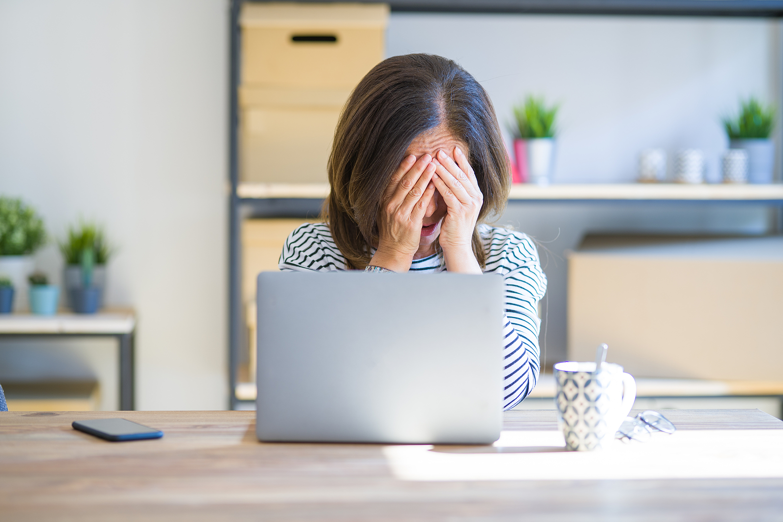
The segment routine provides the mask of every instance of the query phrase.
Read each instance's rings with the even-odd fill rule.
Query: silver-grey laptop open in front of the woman
[[[262,272],[259,441],[500,437],[503,279]]]

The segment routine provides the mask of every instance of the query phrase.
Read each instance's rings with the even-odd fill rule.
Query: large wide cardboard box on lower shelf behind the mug
[[[568,358],[635,376],[783,379],[783,237],[587,236],[568,256]]]

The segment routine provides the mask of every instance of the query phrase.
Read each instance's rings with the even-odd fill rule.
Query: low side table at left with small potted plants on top
[[[120,409],[134,408],[136,319],[133,311],[96,314],[0,315],[0,339],[20,337],[114,337],[119,350]]]

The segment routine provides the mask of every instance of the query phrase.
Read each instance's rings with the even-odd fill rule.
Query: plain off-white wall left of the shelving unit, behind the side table
[[[119,247],[106,301],[139,316],[138,409],[223,409],[226,0],[0,2],[0,193],[53,237]],[[36,256],[59,276],[56,248]]]

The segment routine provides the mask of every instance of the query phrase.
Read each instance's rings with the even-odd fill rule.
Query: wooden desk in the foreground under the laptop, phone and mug
[[[666,415],[677,434],[601,455],[547,445],[551,411],[507,412],[500,442],[511,445],[435,448],[262,444],[254,412],[2,412],[0,520],[783,519],[783,422],[758,410]],[[165,436],[112,443],[70,427],[108,416]],[[666,459],[681,478],[664,478]],[[412,462],[455,475],[416,477]],[[659,477],[638,478],[648,469]],[[591,478],[612,473],[637,478]]]

